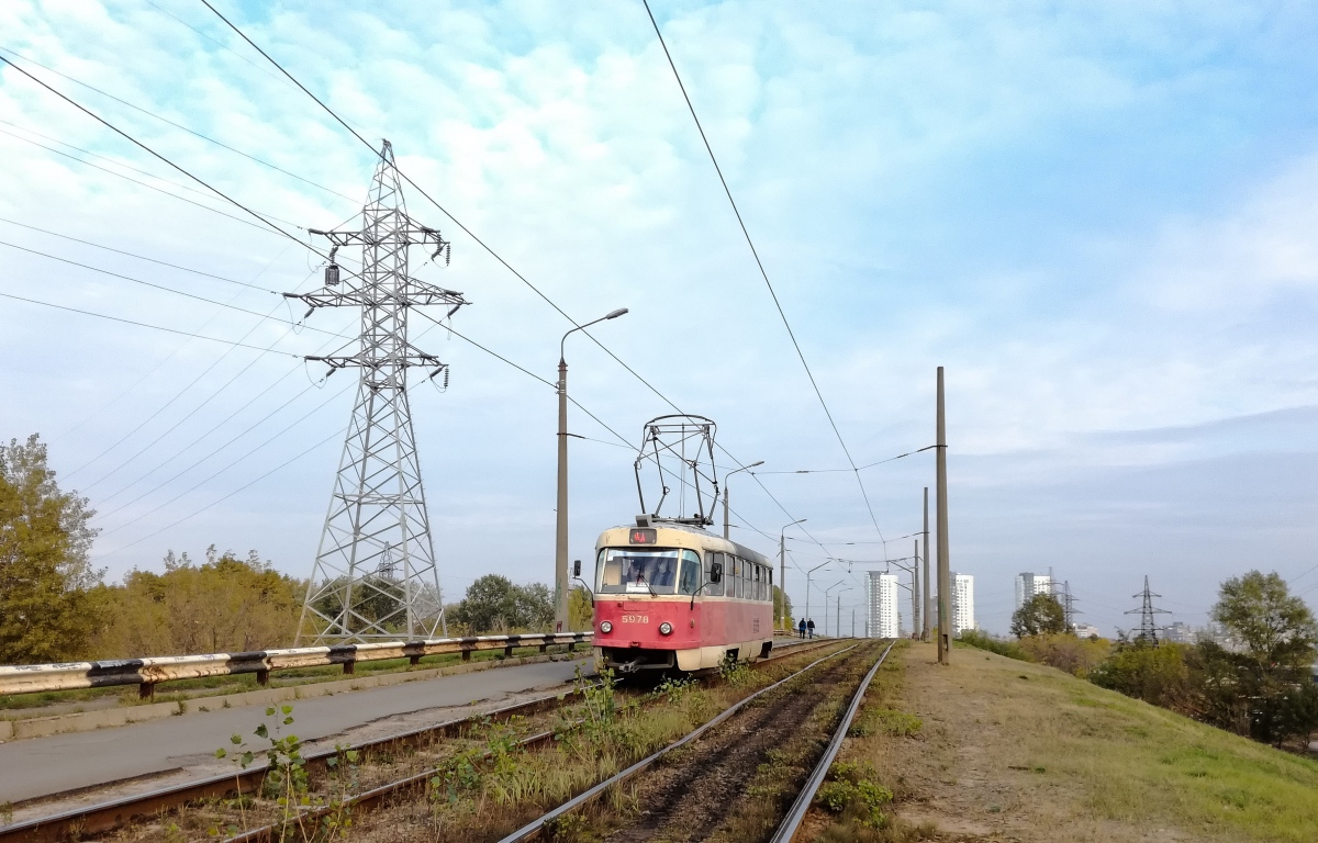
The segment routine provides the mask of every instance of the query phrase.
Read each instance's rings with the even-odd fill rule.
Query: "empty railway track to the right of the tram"
[[[746,785],[762,769],[762,764],[774,760],[774,749],[789,742],[789,734],[797,730],[803,721],[826,701],[829,695],[826,690],[840,684],[847,684],[851,673],[847,668],[854,665],[857,655],[863,659],[866,652],[861,649],[857,653],[858,648],[862,645],[857,644],[830,653],[787,678],[751,694],[704,726],[502,838],[500,843],[523,843],[543,838],[547,830],[563,823],[568,815],[588,807],[610,789],[645,777],[650,777],[652,781],[641,781],[634,785],[634,790],[638,793],[635,797],[638,810],[617,822],[605,822],[604,827],[597,825],[596,831],[602,832],[610,843],[633,843],[652,838],[705,839],[718,831],[721,825],[726,825],[725,821],[729,819],[733,810],[745,807]],[[883,649],[873,666],[857,682],[850,694],[849,705],[832,728],[832,738],[815,761],[809,776],[796,790],[786,813],[772,811],[776,806],[767,806],[775,814],[782,813],[776,825],[767,829],[771,834],[755,835],[757,818],[762,827],[766,818],[766,811],[762,810],[766,806],[755,806],[749,822],[742,822],[737,829],[742,832],[735,835],[738,839],[745,839],[745,832],[750,831],[750,839],[791,843],[837,757],[870,681],[891,649],[892,643]],[[846,657],[849,653],[851,653],[850,659]],[[815,674],[811,674],[812,670],[816,670]],[[807,678],[807,674],[811,674],[808,676],[811,680],[809,692],[800,693],[792,689],[792,684],[800,684],[800,680]],[[786,699],[783,699],[784,695]],[[772,705],[764,705],[770,701]],[[826,715],[826,713],[824,714]],[[729,723],[730,721],[731,723]],[[717,728],[725,723],[728,723],[725,728]],[[679,751],[683,751],[685,757],[664,764]],[[641,805],[646,806],[645,810],[639,810]]]

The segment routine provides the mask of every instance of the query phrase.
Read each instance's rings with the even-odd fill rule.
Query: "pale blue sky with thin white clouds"
[[[1191,626],[1251,569],[1318,605],[1311,5],[652,3],[837,435],[641,3],[214,5],[443,205],[406,195],[453,244],[411,266],[472,302],[456,331],[552,382],[572,324],[546,299],[630,310],[590,331],[635,374],[567,341],[621,436],[569,415],[573,558],[634,518],[642,427],[676,406],[717,422],[721,469],[764,461],[731,478],[734,537],[772,556],[807,519],[787,589],[803,614],[824,565],[809,612],[838,584],[849,619],[913,551],[932,452],[796,472],[932,444],[945,366],[983,628],[1019,572],[1106,635],[1145,576]],[[356,315],[279,294],[319,286],[307,229],[353,223],[374,154],[199,0],[16,0],[0,33],[298,238],[0,67],[0,437],[40,433],[91,499],[107,580],[211,544],[307,577],[355,382],[302,357]],[[451,365],[411,391],[445,597],[552,582],[554,390],[411,331]]]

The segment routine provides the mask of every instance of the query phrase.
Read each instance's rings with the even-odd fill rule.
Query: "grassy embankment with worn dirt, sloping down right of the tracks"
[[[892,792],[887,827],[820,811],[813,839],[1318,840],[1313,760],[1037,664],[894,657],[840,757]]]

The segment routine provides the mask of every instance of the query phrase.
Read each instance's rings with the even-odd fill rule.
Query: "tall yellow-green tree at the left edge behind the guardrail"
[[[83,655],[98,623],[88,599],[100,572],[86,498],[63,493],[37,435],[0,445],[0,661]]]

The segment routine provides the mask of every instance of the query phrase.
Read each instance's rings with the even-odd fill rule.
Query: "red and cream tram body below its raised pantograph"
[[[774,568],[735,541],[637,519],[596,543],[594,653],[630,673],[717,668],[774,645]]]

